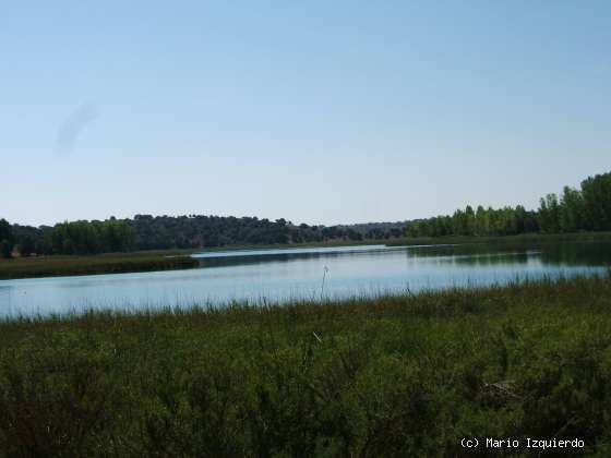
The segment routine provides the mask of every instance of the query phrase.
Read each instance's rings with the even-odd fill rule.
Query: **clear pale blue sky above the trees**
[[[0,0],[0,218],[397,221],[611,170],[611,2]]]

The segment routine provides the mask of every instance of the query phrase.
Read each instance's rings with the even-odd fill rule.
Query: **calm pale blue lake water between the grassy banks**
[[[201,268],[0,281],[0,317],[400,293],[604,274],[611,243],[218,251]],[[323,287],[324,277],[324,287]]]

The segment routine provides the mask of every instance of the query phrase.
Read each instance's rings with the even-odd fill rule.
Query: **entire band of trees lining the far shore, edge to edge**
[[[584,180],[548,194],[537,210],[524,206],[476,209],[409,222],[352,226],[293,225],[284,218],[152,216],[111,217],[104,221],[65,221],[50,226],[11,225],[0,219],[0,255],[96,254],[132,250],[197,249],[226,245],[272,245],[326,241],[387,240],[402,237],[512,236],[519,233],[611,230],[611,173]]]

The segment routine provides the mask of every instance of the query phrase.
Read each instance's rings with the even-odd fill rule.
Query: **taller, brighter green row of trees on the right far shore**
[[[541,197],[537,210],[516,207],[474,210],[470,205],[453,215],[412,221],[408,237],[513,236],[519,233],[564,233],[611,230],[611,173],[588,177],[580,189],[564,186]]]

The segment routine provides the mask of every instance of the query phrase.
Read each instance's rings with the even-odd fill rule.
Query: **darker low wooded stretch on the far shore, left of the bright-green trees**
[[[403,226],[293,225],[284,218],[275,221],[257,217],[221,217],[205,215],[152,216],[104,221],[65,221],[53,227],[0,222],[0,248],[3,257],[19,252],[31,254],[97,254],[133,250],[197,249],[227,245],[273,245],[311,243],[332,240],[360,241],[405,236]]]

